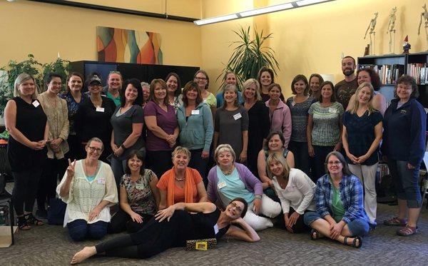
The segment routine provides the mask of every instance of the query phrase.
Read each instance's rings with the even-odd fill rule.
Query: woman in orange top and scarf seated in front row
[[[173,151],[174,167],[166,171],[157,187],[161,193],[159,210],[174,203],[203,203],[208,201],[207,191],[198,170],[188,167],[190,151],[178,146]]]

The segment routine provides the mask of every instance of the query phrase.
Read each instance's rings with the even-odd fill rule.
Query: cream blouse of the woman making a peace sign
[[[74,177],[71,180],[70,190],[66,197],[61,197],[64,203],[67,203],[66,215],[64,216],[63,226],[66,227],[68,222],[73,220],[86,220],[88,222],[88,215],[101,203],[102,200],[108,200],[108,204],[98,217],[88,223],[98,221],[110,222],[110,206],[118,203],[118,190],[114,180],[113,171],[110,165],[101,162],[101,166],[96,173],[95,178],[89,182],[83,170],[83,160],[76,161],[74,168]],[[67,173],[64,173],[61,183],[56,187],[56,193],[59,195],[61,186],[66,182]]]

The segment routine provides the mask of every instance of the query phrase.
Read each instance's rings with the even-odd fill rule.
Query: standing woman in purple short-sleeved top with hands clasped
[[[149,101],[144,107],[144,121],[147,126],[147,168],[152,169],[157,176],[162,176],[173,167],[171,151],[179,128],[174,107],[168,103],[166,83],[161,78],[153,79],[150,84]]]

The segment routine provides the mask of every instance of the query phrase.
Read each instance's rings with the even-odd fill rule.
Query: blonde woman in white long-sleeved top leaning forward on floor
[[[315,211],[315,184],[302,170],[290,168],[281,153],[269,155],[267,165],[273,188],[281,201],[285,228],[288,232],[309,231],[303,215],[309,210]]]

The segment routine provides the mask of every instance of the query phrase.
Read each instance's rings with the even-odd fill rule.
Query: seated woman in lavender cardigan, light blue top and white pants
[[[214,155],[217,165],[208,173],[208,199],[225,208],[233,198],[243,198],[248,203],[245,222],[256,231],[272,227],[270,218],[281,213],[280,203],[263,194],[262,183],[245,165],[235,163],[236,154],[229,144],[219,145]]]

